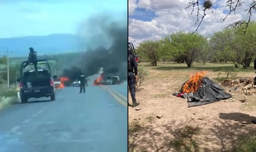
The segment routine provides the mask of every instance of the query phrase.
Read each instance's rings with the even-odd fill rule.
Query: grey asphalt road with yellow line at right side
[[[0,111],[0,152],[127,151],[127,85],[79,89]]]

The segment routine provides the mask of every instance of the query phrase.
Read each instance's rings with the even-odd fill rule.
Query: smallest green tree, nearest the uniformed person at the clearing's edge
[[[149,59],[151,65],[156,66],[159,58],[159,42],[147,40],[139,44],[137,53]]]

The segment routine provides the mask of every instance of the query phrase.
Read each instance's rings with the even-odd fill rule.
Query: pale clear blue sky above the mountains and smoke
[[[0,38],[76,33],[93,14],[127,17],[127,0],[1,0]]]

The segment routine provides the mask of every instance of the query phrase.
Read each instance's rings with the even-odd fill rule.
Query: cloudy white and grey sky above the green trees
[[[189,4],[188,0],[139,0],[138,4],[132,4],[135,4],[135,1],[133,1],[133,3],[129,1],[129,6],[132,6],[129,10],[134,11],[135,8],[140,7],[154,11],[157,15],[157,17],[150,22],[129,19],[129,41],[132,41],[135,46],[144,40],[157,40],[173,32],[194,32],[198,26],[198,24],[195,25],[197,8],[194,8],[193,15],[191,15],[192,8],[185,9]],[[250,2],[245,2],[242,7],[237,9],[235,14],[229,15],[225,21],[221,19],[226,17],[223,11],[229,11],[229,8],[225,7],[226,0],[213,0],[213,4],[214,6],[218,6],[217,9],[206,11],[207,15],[204,17],[203,23],[198,29],[198,33],[205,36],[222,30],[224,27],[227,27],[227,25],[237,20],[247,20],[249,17],[245,10]],[[200,8],[200,10],[199,20],[201,20],[203,15],[202,8]],[[252,16],[252,20],[255,19],[256,18]]]

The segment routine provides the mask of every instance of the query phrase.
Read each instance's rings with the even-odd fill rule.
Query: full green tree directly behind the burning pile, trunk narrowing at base
[[[191,67],[194,60],[201,56],[208,46],[206,38],[197,33],[173,33],[170,35],[170,40],[173,48],[171,54],[176,59],[178,57],[184,59],[188,67]]]

